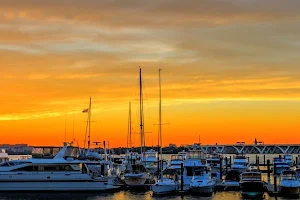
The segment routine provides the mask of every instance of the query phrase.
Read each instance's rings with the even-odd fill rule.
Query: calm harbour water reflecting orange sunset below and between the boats
[[[224,155],[224,156],[232,156],[233,155]],[[251,162],[255,162],[255,155],[248,155]],[[164,155],[164,159],[169,160],[170,155]],[[273,157],[278,157],[278,155],[266,155],[266,160],[270,159],[272,162]],[[296,155],[294,155],[295,159]],[[13,156],[11,159],[20,159],[18,156]],[[260,162],[263,163],[263,155],[259,155]],[[233,162],[233,159],[232,159]],[[267,175],[263,175],[264,181],[267,181]],[[273,178],[271,178],[271,182],[273,182]],[[203,199],[203,200],[235,200],[235,199],[243,199],[239,192],[217,192],[213,194],[212,197],[199,197],[199,196],[190,196],[185,195],[181,196],[163,196],[163,197],[155,197],[152,196],[152,192],[132,192],[132,191],[119,191],[115,193],[0,193],[0,200],[40,200],[40,199],[82,199],[82,200],[158,200],[158,199],[186,199],[186,200],[194,200],[194,199]],[[282,200],[284,198],[275,198],[269,197],[267,193],[265,193],[266,200],[278,199]]]

